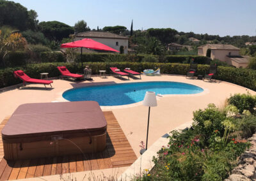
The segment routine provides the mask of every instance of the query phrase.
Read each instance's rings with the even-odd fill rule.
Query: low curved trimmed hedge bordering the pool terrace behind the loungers
[[[161,73],[186,75],[189,69],[189,64],[176,64],[176,63],[155,63],[155,62],[86,62],[83,66],[88,65],[92,68],[92,74],[99,74],[100,69],[106,69],[106,73],[110,72],[110,67],[118,67],[120,69],[131,68],[134,71],[141,72],[143,69],[156,69],[160,68]],[[67,66],[73,73],[83,73],[81,64],[70,64],[64,62],[55,63],[42,63],[42,64],[28,64],[27,66],[17,68],[0,69],[0,87],[15,85],[20,83],[19,79],[15,79],[13,71],[17,69],[24,70],[29,76],[33,78],[40,78],[40,73],[48,72],[49,77],[59,76],[60,73],[57,66]],[[198,65],[198,74],[204,75],[209,69],[208,65]],[[256,91],[256,71],[252,69],[237,69],[230,67],[218,66],[216,79],[223,80],[231,83],[236,83],[243,87],[247,87]]]

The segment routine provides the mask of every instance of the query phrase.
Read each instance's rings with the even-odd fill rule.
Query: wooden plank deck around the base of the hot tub
[[[2,138],[0,138],[0,180],[130,166],[137,159],[136,154],[116,121],[115,115],[112,112],[104,112],[104,116],[108,122],[107,148],[101,153],[9,161],[7,163],[4,159]],[[9,118],[1,122],[0,131]]]

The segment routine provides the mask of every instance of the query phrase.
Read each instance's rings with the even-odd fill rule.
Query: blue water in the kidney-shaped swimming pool
[[[181,82],[137,82],[79,87],[65,91],[62,96],[68,101],[97,101],[100,106],[118,106],[143,101],[147,91],[156,94],[197,94],[204,89]]]

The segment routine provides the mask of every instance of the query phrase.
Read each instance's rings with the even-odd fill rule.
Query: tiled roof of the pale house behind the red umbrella
[[[83,33],[77,33],[76,36],[83,38],[114,38],[128,40],[128,38],[125,36],[120,36],[118,34],[109,33],[105,31],[86,31]]]

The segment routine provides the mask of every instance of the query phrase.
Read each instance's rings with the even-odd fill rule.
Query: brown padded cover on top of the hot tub
[[[95,101],[20,105],[2,130],[4,143],[93,136],[106,133],[107,122]]]

